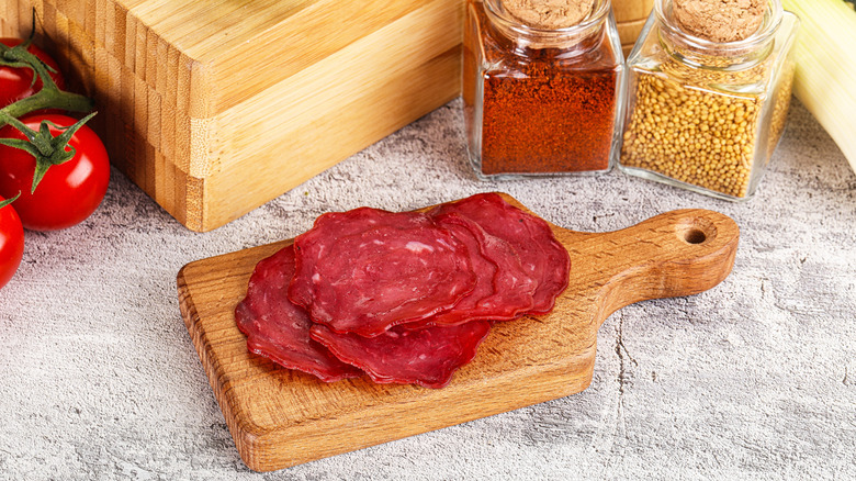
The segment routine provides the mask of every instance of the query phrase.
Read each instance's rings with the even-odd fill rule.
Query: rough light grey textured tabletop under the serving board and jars
[[[0,291],[0,479],[856,479],[856,175],[801,105],[742,204],[618,171],[480,182],[460,114],[452,102],[212,233],[116,172],[86,223],[27,233]],[[249,471],[179,313],[181,266],[293,237],[327,211],[487,190],[589,232],[712,209],[741,226],[736,265],[711,291],[609,317],[579,394]]]

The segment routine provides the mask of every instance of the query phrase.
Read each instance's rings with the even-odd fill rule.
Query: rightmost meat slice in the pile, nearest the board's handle
[[[567,288],[571,257],[545,221],[527,214],[493,192],[440,204],[430,211],[435,216],[446,213],[469,217],[488,234],[508,242],[520,256],[525,270],[538,280],[534,305],[528,313],[552,311],[556,297]]]

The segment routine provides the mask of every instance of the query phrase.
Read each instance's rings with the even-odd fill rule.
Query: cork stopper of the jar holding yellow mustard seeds
[[[673,0],[675,21],[685,32],[711,42],[736,42],[755,33],[768,0]]]

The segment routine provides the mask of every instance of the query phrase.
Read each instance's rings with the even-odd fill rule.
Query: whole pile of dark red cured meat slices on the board
[[[361,208],[260,261],[235,317],[249,350],[285,368],[441,388],[493,321],[551,311],[570,262],[547,222],[494,193]]]

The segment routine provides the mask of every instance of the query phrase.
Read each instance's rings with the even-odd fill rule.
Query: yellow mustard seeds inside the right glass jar
[[[745,197],[755,164],[764,93],[713,91],[709,85],[759,81],[767,66],[721,71],[688,69],[665,60],[663,74],[638,71],[637,99],[628,118],[621,164],[651,170],[728,195]],[[791,76],[781,76],[790,79]],[[790,85],[773,92],[770,144],[780,137],[790,100]]]

